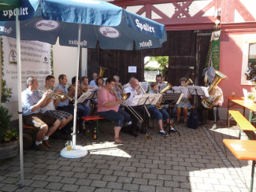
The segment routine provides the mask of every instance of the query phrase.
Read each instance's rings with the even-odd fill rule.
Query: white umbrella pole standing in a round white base
[[[65,147],[61,150],[61,156],[66,158],[80,158],[87,155],[87,150],[83,146],[76,146],[76,112],[77,112],[77,87],[78,87],[78,72],[80,60],[80,42],[81,42],[82,24],[79,24],[78,41],[77,41],[77,63],[76,63],[76,93],[75,93],[75,106],[73,117],[73,132],[72,132],[72,150],[67,150]]]

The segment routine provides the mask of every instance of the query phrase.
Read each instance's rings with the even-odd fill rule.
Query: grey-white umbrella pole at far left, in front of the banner
[[[20,138],[20,188],[24,186],[23,128],[21,104],[21,63],[20,63],[20,9],[16,9],[16,46],[17,46],[17,76],[18,76],[18,114]]]

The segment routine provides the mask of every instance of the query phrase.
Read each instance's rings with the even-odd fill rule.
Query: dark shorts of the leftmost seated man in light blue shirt
[[[47,124],[50,127],[56,120],[56,117],[44,113],[34,113],[28,116],[23,116],[24,124],[30,127],[35,127],[36,129],[40,129],[44,124]]]

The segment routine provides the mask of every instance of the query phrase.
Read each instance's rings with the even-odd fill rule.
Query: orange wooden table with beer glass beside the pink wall
[[[243,97],[225,97],[228,98],[228,110],[230,108],[232,108],[232,106],[234,105],[239,105],[241,107],[243,107],[243,116],[245,114],[245,109],[249,109],[250,110],[250,115],[249,115],[249,122],[251,123],[253,120],[256,120],[256,118],[254,117],[254,113],[256,113],[256,103],[247,103],[244,102],[244,98]],[[228,124],[228,117],[227,117],[227,124]]]

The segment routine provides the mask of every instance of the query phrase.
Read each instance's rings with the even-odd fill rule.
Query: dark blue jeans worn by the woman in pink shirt
[[[123,109],[118,109],[117,112],[114,110],[98,112],[99,116],[104,117],[106,120],[111,120],[115,122],[115,127],[122,127],[123,124],[128,123],[130,120],[130,115],[126,113]]]

